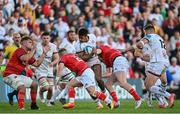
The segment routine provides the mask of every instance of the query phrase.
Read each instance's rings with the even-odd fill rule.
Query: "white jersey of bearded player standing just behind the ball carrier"
[[[67,39],[64,39],[60,45],[60,49],[65,48],[68,53],[76,53],[75,42],[70,43]]]

